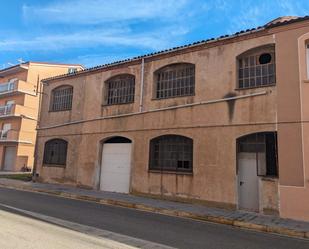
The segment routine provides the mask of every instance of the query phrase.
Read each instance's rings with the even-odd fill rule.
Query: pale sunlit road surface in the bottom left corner
[[[3,249],[135,249],[3,210],[0,210],[0,221],[0,248]]]

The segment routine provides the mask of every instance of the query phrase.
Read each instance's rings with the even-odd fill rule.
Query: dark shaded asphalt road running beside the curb
[[[309,248],[309,240],[5,188],[0,188],[0,209],[9,211],[1,205],[175,248]],[[17,211],[11,210],[11,212]]]

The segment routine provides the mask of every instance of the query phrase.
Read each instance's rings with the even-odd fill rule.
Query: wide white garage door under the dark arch
[[[129,193],[131,143],[105,143],[102,152],[100,189]]]

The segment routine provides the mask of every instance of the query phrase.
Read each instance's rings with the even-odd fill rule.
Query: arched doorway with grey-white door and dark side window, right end
[[[259,177],[277,175],[276,132],[253,133],[237,139],[239,209],[259,211]]]

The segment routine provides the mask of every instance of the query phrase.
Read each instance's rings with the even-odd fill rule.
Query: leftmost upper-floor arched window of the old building
[[[66,111],[72,109],[73,87],[60,86],[51,94],[51,111]]]

